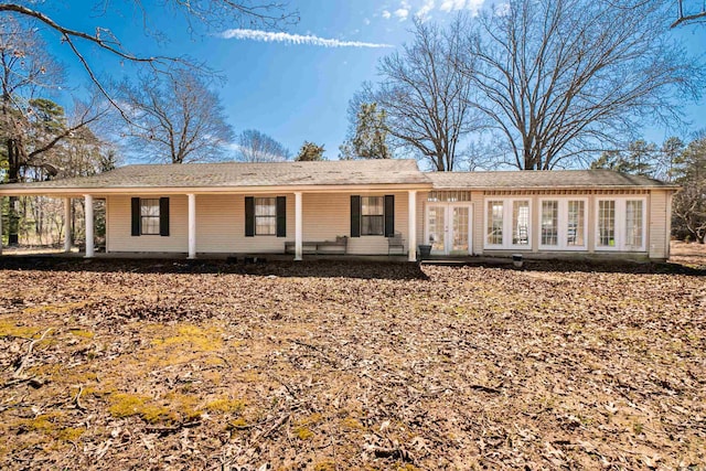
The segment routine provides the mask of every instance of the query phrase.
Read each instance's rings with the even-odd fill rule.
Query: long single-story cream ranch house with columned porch
[[[107,253],[630,257],[670,255],[676,186],[608,170],[421,172],[414,160],[127,165],[0,185],[106,203]],[[65,231],[66,234],[69,231]],[[430,247],[424,247],[430,246]],[[71,248],[67,237],[65,248]]]

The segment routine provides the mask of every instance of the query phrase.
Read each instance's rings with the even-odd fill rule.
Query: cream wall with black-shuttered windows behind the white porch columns
[[[402,233],[408,244],[408,193],[303,193],[302,236],[303,242],[333,240],[336,236],[349,236],[351,232],[351,195],[395,195],[395,232]],[[188,250],[188,199],[186,195],[170,197],[170,235],[131,236],[131,197],[154,195],[129,195],[107,197],[107,250],[186,253]],[[245,197],[248,194],[196,195],[196,253],[258,253],[282,254],[285,242],[295,240],[295,194],[274,193],[256,196],[287,197],[287,235],[245,236]],[[350,237],[347,254],[387,255],[384,236]]]

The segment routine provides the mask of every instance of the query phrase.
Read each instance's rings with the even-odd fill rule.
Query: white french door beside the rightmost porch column
[[[425,240],[432,255],[470,255],[473,206],[468,203],[432,203],[427,206]]]

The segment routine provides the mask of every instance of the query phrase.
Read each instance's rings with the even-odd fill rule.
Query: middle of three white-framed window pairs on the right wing
[[[541,200],[539,248],[586,249],[586,200]]]

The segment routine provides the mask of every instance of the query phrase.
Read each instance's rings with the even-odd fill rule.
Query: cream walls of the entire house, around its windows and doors
[[[502,193],[502,192],[501,192]],[[471,191],[472,206],[472,254],[509,255],[523,253],[537,257],[585,257],[589,254],[614,256],[649,257],[665,259],[668,257],[670,244],[670,200],[671,190],[651,190],[649,192],[495,192]],[[408,249],[408,192],[374,193],[303,193],[302,220],[303,240],[333,240],[336,236],[350,236],[351,195],[395,195],[395,231],[403,234]],[[170,197],[170,235],[131,236],[132,196],[154,197],[153,195],[110,195],[107,197],[107,250],[108,251],[146,251],[146,253],[185,253],[188,250],[188,199],[186,195],[169,195]],[[245,236],[245,197],[246,194],[210,194],[196,195],[196,251],[197,253],[284,253],[285,242],[295,240],[295,195],[293,193],[276,193],[263,196],[286,196],[286,237]],[[259,195],[258,195],[259,196]],[[430,204],[429,192],[417,193],[417,244],[426,244],[426,211]],[[488,248],[485,244],[486,202],[491,199],[521,197],[531,202],[531,244],[526,247],[507,249]],[[582,199],[586,201],[586,247],[579,250],[546,249],[541,247],[541,204],[543,199]],[[607,250],[597,246],[597,205],[601,199],[642,199],[645,204],[644,250]],[[416,247],[414,248],[416,249]],[[351,255],[386,255],[387,239],[384,236],[350,237],[347,254]]]

